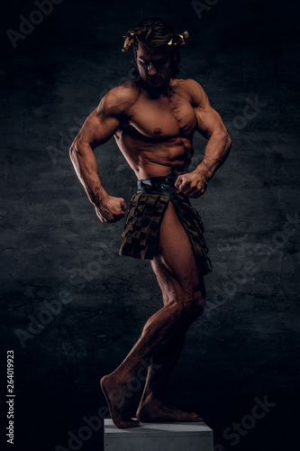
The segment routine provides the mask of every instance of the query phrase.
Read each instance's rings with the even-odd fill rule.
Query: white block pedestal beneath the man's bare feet
[[[213,451],[213,430],[205,423],[140,423],[119,429],[105,419],[105,451]]]

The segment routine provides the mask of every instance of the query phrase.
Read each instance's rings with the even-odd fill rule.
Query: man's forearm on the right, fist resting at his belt
[[[207,180],[212,179],[214,172],[223,165],[232,147],[228,133],[213,133],[205,148],[205,157],[195,171],[205,172]]]

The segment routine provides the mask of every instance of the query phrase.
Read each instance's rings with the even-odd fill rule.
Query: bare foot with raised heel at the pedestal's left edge
[[[132,419],[127,412],[127,399],[131,393],[126,391],[126,385],[117,382],[112,374],[103,377],[100,385],[115,426],[122,429],[140,426],[139,421]]]

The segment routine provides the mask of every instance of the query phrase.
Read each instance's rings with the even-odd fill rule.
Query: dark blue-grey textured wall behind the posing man
[[[161,306],[149,262],[118,256],[123,221],[100,223],[68,158],[89,112],[130,76],[124,32],[150,15],[190,32],[181,77],[202,84],[233,141],[230,158],[193,202],[214,272],[205,278],[208,308],[187,336],[172,397],[202,413],[217,451],[298,443],[299,6],[202,5],[196,13],[183,1],[64,0],[23,30],[20,14],[29,18],[37,6],[14,0],[6,8],[1,330],[3,362],[7,349],[15,355],[16,451],[71,449],[69,434],[105,406],[100,377]],[[10,38],[8,29],[26,33]],[[205,150],[200,136],[195,150],[193,167]],[[134,174],[114,140],[96,155],[105,188],[128,203]],[[272,407],[253,422],[263,400]],[[233,421],[242,425],[234,437]],[[101,449],[101,434],[77,449]]]

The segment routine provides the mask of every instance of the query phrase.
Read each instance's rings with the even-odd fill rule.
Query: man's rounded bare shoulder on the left
[[[140,97],[140,89],[132,80],[113,87],[102,97],[97,113],[99,115],[126,115]]]

